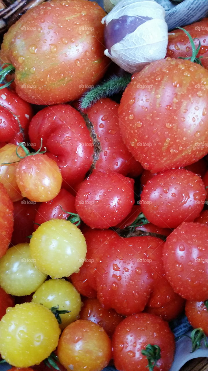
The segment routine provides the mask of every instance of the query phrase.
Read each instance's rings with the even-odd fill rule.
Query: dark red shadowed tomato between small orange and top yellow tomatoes
[[[35,216],[39,203],[24,198],[14,202],[14,230],[11,237],[11,244],[30,242],[27,236],[34,231]]]

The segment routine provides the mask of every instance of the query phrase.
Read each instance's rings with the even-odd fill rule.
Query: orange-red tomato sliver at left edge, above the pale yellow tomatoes
[[[10,244],[14,226],[13,202],[10,200],[6,188],[4,188],[2,183],[0,183],[0,198],[0,257],[2,257],[6,254]]]

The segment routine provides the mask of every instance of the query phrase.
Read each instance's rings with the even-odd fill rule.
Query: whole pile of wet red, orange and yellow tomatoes
[[[177,59],[180,30],[120,104],[83,113],[110,64],[104,15],[51,0],[1,46],[15,68],[0,86],[0,352],[13,371],[169,371],[168,322],[184,308],[208,335],[207,64]]]

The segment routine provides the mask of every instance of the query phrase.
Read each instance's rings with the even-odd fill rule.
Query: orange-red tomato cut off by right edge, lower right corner
[[[187,301],[185,313],[193,328],[202,328],[208,336],[208,309],[204,302]]]

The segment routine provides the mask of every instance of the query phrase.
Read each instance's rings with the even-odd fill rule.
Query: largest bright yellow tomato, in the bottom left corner
[[[1,356],[15,367],[39,364],[56,349],[60,332],[50,309],[35,303],[17,304],[1,319]]]

